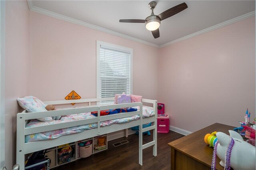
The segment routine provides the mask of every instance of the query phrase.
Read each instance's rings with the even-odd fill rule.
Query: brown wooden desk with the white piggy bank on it
[[[171,147],[171,170],[210,170],[213,148],[204,143],[204,136],[214,131],[229,134],[234,127],[215,123],[168,143]],[[223,170],[217,156],[216,170]]]

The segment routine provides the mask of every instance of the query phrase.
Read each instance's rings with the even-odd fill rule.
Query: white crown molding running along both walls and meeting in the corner
[[[52,11],[48,11],[48,10],[45,10],[45,9],[42,9],[42,8],[39,8],[39,7],[36,7],[33,5],[33,2],[31,0],[28,0],[28,6],[29,6],[29,9],[30,11],[33,11],[33,12],[37,12],[39,14],[43,14],[43,15],[47,15],[47,16],[50,16],[50,17],[53,17],[53,18],[57,18],[57,19],[60,19],[60,20],[64,20],[64,21],[67,21],[67,22],[71,22],[73,24],[78,24],[80,26],[84,26],[84,27],[87,27],[87,28],[91,28],[91,29],[94,29],[94,30],[98,30],[98,31],[101,31],[101,32],[105,32],[107,34],[111,34],[111,35],[114,35],[114,36],[118,36],[118,37],[121,37],[121,38],[126,38],[128,40],[132,40],[134,42],[138,42],[138,43],[142,43],[142,44],[146,44],[146,45],[150,45],[152,47],[156,47],[156,48],[162,48],[162,47],[166,47],[168,45],[171,45],[171,44],[174,44],[174,43],[177,43],[177,42],[181,42],[181,41],[184,41],[184,40],[187,40],[189,38],[192,38],[192,37],[195,37],[195,36],[199,36],[201,34],[204,34],[206,32],[210,32],[210,31],[213,31],[213,30],[216,30],[218,28],[222,28],[224,26],[228,26],[230,24],[234,24],[235,22],[239,22],[241,20],[245,20],[247,18],[250,18],[250,17],[253,17],[255,16],[255,11],[252,11],[252,12],[249,12],[248,14],[244,14],[242,16],[238,16],[236,18],[233,18],[231,20],[228,20],[228,21],[225,21],[225,22],[222,22],[220,24],[217,24],[215,26],[212,26],[212,27],[209,27],[209,28],[206,28],[204,30],[201,30],[201,31],[198,31],[198,32],[195,32],[193,34],[190,34],[188,36],[184,36],[182,38],[179,38],[177,40],[173,40],[171,42],[168,42],[168,43],[164,43],[162,45],[157,45],[157,44],[154,44],[154,43],[150,43],[150,42],[146,42],[144,40],[140,40],[138,38],[134,38],[134,37],[131,37],[131,36],[127,36],[125,34],[121,34],[119,32],[115,32],[115,31],[112,31],[112,30],[108,30],[106,28],[102,28],[102,27],[99,27],[99,26],[95,26],[93,24],[89,24],[87,22],[83,22],[83,21],[80,21],[80,20],[76,20],[74,18],[70,18],[68,16],[64,16],[64,15],[61,15],[61,14],[58,14],[58,13],[55,13],[55,12],[52,12]]]

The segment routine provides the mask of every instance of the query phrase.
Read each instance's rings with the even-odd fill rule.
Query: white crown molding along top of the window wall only
[[[29,6],[32,4],[32,2],[28,1],[28,4]],[[32,4],[33,5],[33,4]],[[126,38],[128,40],[132,40],[134,42],[139,42],[139,43],[142,43],[142,44],[146,44],[146,45],[150,45],[152,47],[156,47],[156,48],[159,48],[160,45],[156,45],[154,43],[150,43],[150,42],[146,42],[144,40],[140,40],[138,38],[134,38],[134,37],[131,37],[131,36],[127,36],[125,34],[121,34],[119,32],[114,32],[112,30],[108,30],[106,28],[102,28],[102,27],[99,27],[99,26],[95,26],[93,24],[89,24],[87,22],[83,22],[83,21],[80,21],[80,20],[76,20],[74,18],[70,18],[68,16],[64,16],[62,14],[58,14],[58,13],[55,13],[55,12],[52,12],[52,11],[49,11],[49,10],[45,10],[45,9],[42,9],[42,8],[38,8],[36,6],[32,6],[32,8],[30,8],[30,11],[33,11],[33,12],[37,12],[39,14],[44,14],[44,15],[47,15],[47,16],[51,16],[51,17],[54,17],[54,18],[57,18],[57,19],[60,19],[60,20],[64,20],[64,21],[67,21],[67,22],[71,22],[73,24],[77,24],[77,25],[80,25],[80,26],[84,26],[84,27],[87,27],[87,28],[91,28],[91,29],[94,29],[94,30],[97,30],[97,31],[101,31],[101,32],[105,32],[107,34],[111,34],[111,35],[114,35],[114,36],[118,36],[118,37],[122,37],[122,38]]]

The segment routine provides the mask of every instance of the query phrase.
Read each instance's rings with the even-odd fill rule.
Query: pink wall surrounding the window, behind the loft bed
[[[64,100],[72,90],[96,98],[96,40],[133,49],[133,93],[158,96],[158,48],[30,12],[30,95]]]

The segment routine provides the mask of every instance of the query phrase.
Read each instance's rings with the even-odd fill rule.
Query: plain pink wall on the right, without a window
[[[161,48],[159,57],[158,102],[170,125],[238,127],[246,108],[255,117],[255,17]]]

